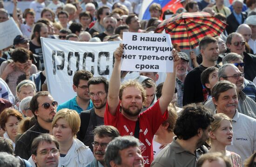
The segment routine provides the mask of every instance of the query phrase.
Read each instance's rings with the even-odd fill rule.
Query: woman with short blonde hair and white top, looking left
[[[94,160],[89,147],[76,139],[80,125],[79,114],[74,110],[64,108],[54,116],[53,134],[60,143],[59,167],[84,167]]]

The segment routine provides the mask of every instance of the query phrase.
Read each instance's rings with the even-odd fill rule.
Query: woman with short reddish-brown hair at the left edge
[[[12,140],[13,150],[15,148],[15,136],[18,134],[18,125],[22,119],[22,114],[12,108],[4,109],[0,114],[0,127],[5,130],[4,138]]]

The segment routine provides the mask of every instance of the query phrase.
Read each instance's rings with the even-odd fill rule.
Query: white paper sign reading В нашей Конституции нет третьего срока
[[[172,44],[169,34],[124,32],[123,44],[121,70],[173,72]]]

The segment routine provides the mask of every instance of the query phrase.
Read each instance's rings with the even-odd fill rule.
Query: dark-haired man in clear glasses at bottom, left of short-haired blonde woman
[[[59,149],[59,143],[53,135],[41,134],[33,140],[32,160],[37,167],[58,167]]]

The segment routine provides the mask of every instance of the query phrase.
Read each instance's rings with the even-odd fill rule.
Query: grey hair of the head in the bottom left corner
[[[20,160],[12,154],[1,152],[0,167],[20,167]]]

